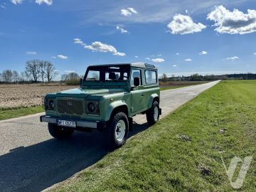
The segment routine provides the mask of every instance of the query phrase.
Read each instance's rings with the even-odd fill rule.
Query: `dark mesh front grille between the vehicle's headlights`
[[[83,114],[83,101],[71,99],[57,100],[58,112],[62,114]]]

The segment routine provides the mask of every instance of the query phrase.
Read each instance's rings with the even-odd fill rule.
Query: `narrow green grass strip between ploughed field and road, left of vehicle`
[[[16,109],[0,109],[0,120],[21,117],[38,112],[44,112],[44,109],[41,105],[36,107],[20,107]]]

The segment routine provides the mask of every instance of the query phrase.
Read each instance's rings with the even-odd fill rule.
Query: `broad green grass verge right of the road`
[[[221,156],[253,156],[240,190],[255,191],[255,125],[256,81],[223,81],[53,191],[234,191]]]

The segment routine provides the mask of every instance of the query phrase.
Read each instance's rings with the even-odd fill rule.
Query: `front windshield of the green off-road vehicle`
[[[96,82],[95,85],[97,82],[123,82],[122,85],[127,85],[129,71],[129,65],[90,66],[87,68],[83,81],[87,85],[92,85],[92,82]]]

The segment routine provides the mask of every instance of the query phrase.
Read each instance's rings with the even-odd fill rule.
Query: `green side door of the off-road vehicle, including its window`
[[[134,86],[134,78],[139,78],[139,86],[134,87],[131,91],[132,94],[132,112],[144,110],[146,107],[145,95],[142,86],[142,70],[139,68],[132,69],[131,86]]]

